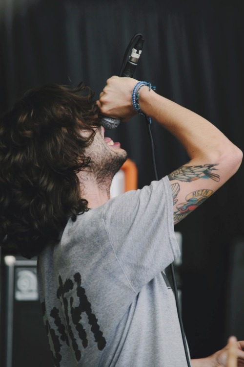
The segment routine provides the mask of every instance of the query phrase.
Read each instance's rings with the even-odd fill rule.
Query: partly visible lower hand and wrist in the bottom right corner
[[[244,341],[230,337],[228,344],[209,357],[191,360],[192,367],[243,367]]]

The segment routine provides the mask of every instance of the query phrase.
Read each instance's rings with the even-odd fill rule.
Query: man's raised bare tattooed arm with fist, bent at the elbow
[[[136,83],[131,78],[110,78],[100,95],[102,113],[125,120],[134,115],[131,92]],[[173,134],[190,157],[168,175],[178,223],[234,175],[243,153],[209,121],[146,86],[140,90],[139,103],[141,111]]]

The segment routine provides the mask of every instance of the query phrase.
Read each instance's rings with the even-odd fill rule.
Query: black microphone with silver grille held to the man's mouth
[[[132,48],[129,60],[127,61],[124,69],[122,70],[122,77],[130,77],[132,78],[134,71],[137,67],[138,60],[142,53],[142,47],[143,47],[144,39],[142,37],[139,38],[134,48]],[[109,116],[102,116],[101,124],[106,130],[112,130],[116,129],[121,120],[119,118],[113,118]]]

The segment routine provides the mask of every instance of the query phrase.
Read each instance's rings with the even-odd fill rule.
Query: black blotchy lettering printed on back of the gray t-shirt
[[[48,320],[45,322],[47,334],[50,336],[53,344],[53,358],[55,366],[59,367],[61,362],[61,341],[65,342],[68,346],[72,346],[76,360],[80,361],[81,359],[81,350],[79,349],[79,345],[77,344],[77,340],[75,338],[73,328],[78,332],[79,338],[82,341],[83,348],[86,348],[88,345],[87,334],[82,325],[82,313],[85,313],[88,318],[88,323],[91,325],[91,331],[94,335],[94,341],[97,343],[98,349],[103,350],[106,345],[106,340],[103,337],[102,331],[100,330],[100,326],[98,324],[98,319],[92,313],[91,304],[88,301],[85,289],[81,287],[81,274],[76,273],[74,275],[74,281],[71,279],[66,279],[63,283],[61,276],[59,276],[59,288],[57,290],[57,298],[61,301],[62,309],[64,310],[65,316],[65,325],[63,325],[60,318],[60,310],[57,307],[53,307],[50,312],[50,316],[54,319],[54,323],[57,326],[56,331],[58,332],[58,336],[55,334],[55,331],[51,329]],[[76,287],[76,297],[75,304],[78,303],[77,307],[73,307],[74,298],[66,298],[65,293],[71,291],[74,286]],[[78,300],[78,302],[77,302]],[[45,302],[42,302],[42,312],[45,315]],[[60,339],[59,339],[60,338]],[[51,348],[52,349],[52,348]]]

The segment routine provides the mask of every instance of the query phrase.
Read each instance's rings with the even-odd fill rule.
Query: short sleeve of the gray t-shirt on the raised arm
[[[104,205],[103,221],[117,260],[137,293],[180,255],[167,176],[111,199]]]

